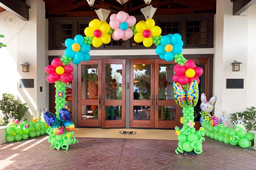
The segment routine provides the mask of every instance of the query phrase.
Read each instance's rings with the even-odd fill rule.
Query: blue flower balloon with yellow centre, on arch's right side
[[[175,54],[182,52],[183,41],[180,34],[168,34],[160,40],[161,44],[156,47],[156,53],[161,59],[170,62]]]

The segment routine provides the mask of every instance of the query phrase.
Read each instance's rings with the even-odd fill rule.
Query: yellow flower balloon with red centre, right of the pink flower
[[[139,21],[135,29],[138,33],[134,35],[135,42],[143,42],[145,47],[150,47],[153,44],[153,37],[160,36],[162,30],[159,26],[155,26],[153,19],[147,19],[146,21]]]

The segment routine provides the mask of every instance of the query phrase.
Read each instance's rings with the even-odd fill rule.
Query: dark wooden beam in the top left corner
[[[21,0],[0,0],[0,6],[23,21],[29,20],[29,6]]]

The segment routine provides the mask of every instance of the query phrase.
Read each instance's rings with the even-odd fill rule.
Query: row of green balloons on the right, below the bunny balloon
[[[225,144],[230,144],[232,146],[239,145],[242,148],[249,148],[252,143],[254,135],[250,132],[245,132],[242,129],[236,130],[232,127],[225,127],[223,124],[218,124],[218,126],[211,126],[210,121],[203,121],[202,126],[205,128],[206,136],[214,138]]]

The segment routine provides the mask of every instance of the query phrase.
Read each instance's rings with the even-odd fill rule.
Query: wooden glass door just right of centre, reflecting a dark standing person
[[[154,59],[131,60],[130,127],[154,127]]]

